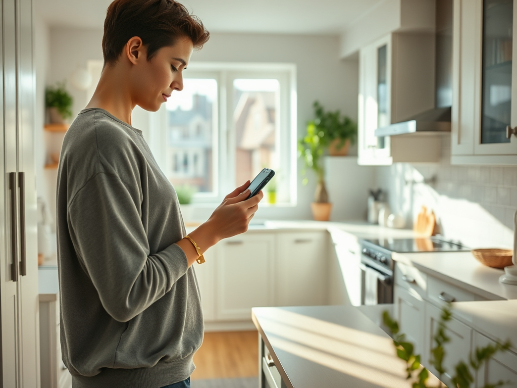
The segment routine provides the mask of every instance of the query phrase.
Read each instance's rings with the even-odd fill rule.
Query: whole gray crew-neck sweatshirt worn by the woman
[[[159,388],[187,379],[203,339],[176,192],[142,132],[85,109],[57,175],[63,361],[72,386]]]

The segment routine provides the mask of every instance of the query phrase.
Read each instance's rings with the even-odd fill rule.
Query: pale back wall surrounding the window
[[[47,84],[67,79],[78,65],[86,67],[88,60],[102,60],[102,29],[53,27],[50,41],[51,69]],[[192,55],[191,61],[296,64],[298,137],[305,131],[305,123],[312,118],[312,103],[316,99],[327,109],[340,109],[354,120],[357,118],[358,64],[339,58],[338,37],[212,34],[203,50]],[[86,92],[75,91],[70,85],[68,89],[74,98],[75,115],[87,103]],[[142,112],[138,116],[134,117],[138,120],[133,124],[145,123]],[[298,168],[301,168],[301,162],[298,162]],[[301,178],[298,181],[301,182]],[[255,219],[310,219],[315,180],[310,181],[307,186],[298,184],[296,207],[263,207]],[[197,208],[194,218],[206,219],[212,210],[213,207]]]

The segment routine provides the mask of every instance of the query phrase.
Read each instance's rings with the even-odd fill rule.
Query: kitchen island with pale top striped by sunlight
[[[357,307],[257,307],[252,318],[261,388],[412,386],[391,338]]]

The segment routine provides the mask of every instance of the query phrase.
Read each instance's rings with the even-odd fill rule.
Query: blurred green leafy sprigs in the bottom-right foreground
[[[413,388],[442,388],[448,385],[441,382],[443,375],[447,370],[443,365],[446,351],[445,344],[450,342],[447,336],[447,322],[452,318],[452,305],[446,304],[442,308],[440,320],[436,333],[433,335],[434,348],[431,349],[431,365],[438,372],[438,379],[440,382],[437,386],[428,385],[429,371],[420,364],[420,355],[414,353],[414,345],[406,341],[405,335],[399,333],[399,324],[393,320],[388,311],[383,312],[383,323],[393,338],[393,345],[397,350],[397,356],[406,362],[407,379],[412,379]],[[481,366],[490,360],[490,358],[497,352],[508,350],[511,347],[510,341],[504,343],[496,342],[495,345],[487,345],[483,348],[476,348],[473,354],[468,355],[468,363],[460,361],[454,366],[454,375],[452,375],[451,382],[455,388],[470,388],[474,383],[474,376],[476,372],[481,369]],[[416,376],[414,376],[416,374]],[[496,388],[509,384],[507,381],[499,380],[493,384],[486,384],[480,388]]]

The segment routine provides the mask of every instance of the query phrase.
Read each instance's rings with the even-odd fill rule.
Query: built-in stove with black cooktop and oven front
[[[361,304],[393,303],[391,253],[468,251],[460,241],[443,237],[361,240]]]

